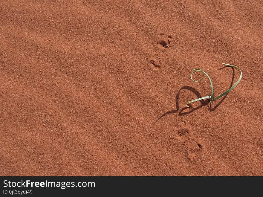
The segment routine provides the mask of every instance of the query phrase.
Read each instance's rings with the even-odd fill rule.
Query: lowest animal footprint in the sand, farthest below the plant
[[[201,142],[192,141],[188,143],[187,147],[187,158],[190,161],[196,161],[201,157],[204,146]]]

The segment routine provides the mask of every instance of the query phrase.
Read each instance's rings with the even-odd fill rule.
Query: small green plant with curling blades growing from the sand
[[[224,63],[223,63],[223,64],[224,64]],[[233,88],[236,87],[236,85],[240,82],[241,77],[242,77],[242,71],[241,71],[241,69],[238,68],[238,67],[235,66],[235,65],[230,65],[230,64],[224,64],[224,65],[237,68],[237,69],[240,71],[240,77],[239,77],[239,79],[237,80],[237,82],[236,82],[231,88],[229,88],[227,91],[225,91],[223,94],[219,95],[218,97],[213,98],[213,96],[214,96],[214,89],[213,89],[213,85],[212,85],[212,81],[211,81],[210,77],[208,76],[208,74],[207,74],[206,72],[202,71],[202,70],[199,69],[199,68],[195,68],[195,69],[192,70],[191,80],[192,80],[193,82],[199,82],[199,81],[202,81],[202,80],[204,79],[204,75],[206,75],[206,76],[208,77],[208,79],[209,79],[209,81],[210,81],[210,85],[211,85],[211,96],[201,97],[201,98],[198,98],[198,99],[195,99],[195,100],[188,101],[188,102],[186,103],[186,107],[189,107],[189,106],[188,106],[189,103],[192,103],[192,102],[195,102],[195,101],[198,101],[198,100],[202,100],[202,99],[209,99],[209,100],[210,100],[210,106],[212,106],[212,103],[213,103],[214,100],[219,99],[220,97],[224,96],[225,94],[227,94],[227,93],[230,92]],[[201,78],[201,80],[199,80],[199,81],[193,80],[192,75],[193,75],[195,72],[202,72],[202,73],[203,73],[203,77]]]

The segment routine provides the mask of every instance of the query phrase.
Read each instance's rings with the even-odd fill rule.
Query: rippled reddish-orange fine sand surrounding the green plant
[[[263,175],[262,10],[1,1],[0,175]]]

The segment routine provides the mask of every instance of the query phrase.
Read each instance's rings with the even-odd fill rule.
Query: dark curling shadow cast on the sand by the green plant
[[[224,66],[224,67],[222,67],[222,68],[219,68],[218,70],[221,70],[221,69],[226,68],[226,67],[229,67],[229,66]],[[235,69],[234,69],[233,67],[231,67],[231,68],[232,68],[233,74],[232,74],[232,80],[231,80],[231,84],[230,84],[230,87],[229,87],[229,88],[231,88],[231,86],[233,85],[234,77],[235,77]],[[176,110],[170,110],[170,111],[168,111],[168,112],[165,112],[164,114],[162,114],[162,115],[154,122],[154,124],[155,124],[158,120],[160,120],[161,118],[163,118],[164,116],[166,116],[166,115],[168,115],[168,114],[174,114],[174,113],[177,113],[177,112],[179,111],[179,108],[180,108],[180,106],[179,106],[179,95],[180,95],[181,90],[189,90],[189,91],[192,91],[192,92],[196,95],[197,98],[202,97],[201,94],[200,94],[195,88],[192,88],[192,87],[190,87],[190,86],[184,86],[184,87],[180,88],[180,90],[177,92],[176,99],[175,99]],[[227,93],[227,94],[228,94],[228,93]],[[214,111],[216,108],[218,108],[218,106],[220,106],[221,103],[226,99],[227,94],[224,95],[224,97],[219,101],[218,104],[216,104],[215,107],[211,108],[211,106],[210,106],[210,107],[209,107],[209,111],[212,112],[212,111]],[[186,109],[189,109],[189,108],[188,108],[188,107],[184,107],[183,109],[181,109],[181,110],[179,111],[178,116],[184,116],[184,115],[190,114],[190,113],[194,112],[195,110],[200,109],[201,107],[206,106],[207,104],[210,103],[210,100],[199,100],[199,101],[200,101],[200,105],[199,105],[199,106],[197,106],[197,107],[195,107],[195,108],[192,108],[190,111],[187,111],[187,112],[184,112],[184,111],[185,111]],[[191,104],[189,104],[189,107],[192,107]]]

